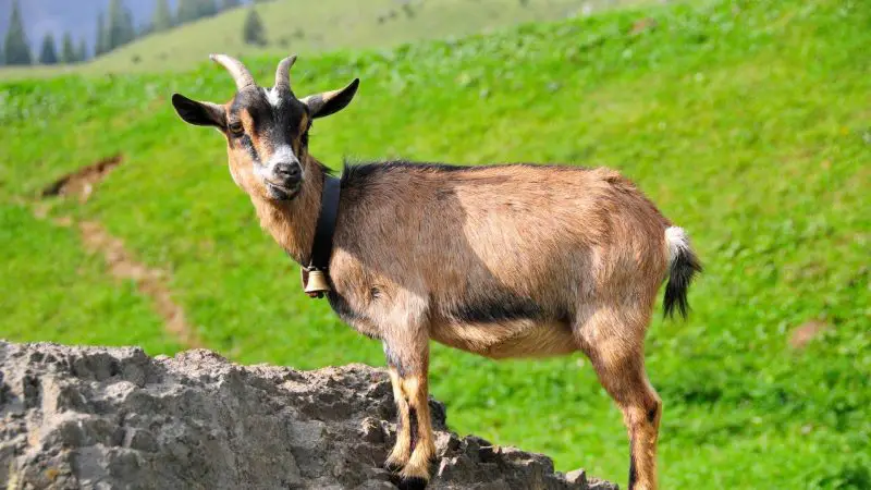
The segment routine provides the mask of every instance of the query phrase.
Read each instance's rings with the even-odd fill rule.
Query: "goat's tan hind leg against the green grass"
[[[600,310],[576,334],[599,381],[623,412],[629,434],[629,490],[655,490],[662,401],[645,371],[647,323],[618,318],[615,311]]]

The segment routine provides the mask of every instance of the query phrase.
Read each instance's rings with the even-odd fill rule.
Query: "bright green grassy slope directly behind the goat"
[[[689,231],[707,266],[695,310],[657,320],[647,343],[664,400],[662,488],[867,489],[870,23],[859,2],[722,0],[302,57],[293,79],[298,94],[363,79],[352,108],[312,133],[333,167],[345,156],[609,166]],[[278,60],[246,61],[268,82]],[[233,185],[222,139],[176,119],[174,90],[222,101],[233,85],[211,65],[0,84],[0,313],[12,315],[0,336],[173,348],[148,299],[126,284],[109,295],[99,260],[51,226],[72,217],[169,271],[187,321],[234,359],[382,364],[378,343],[300,293]],[[90,200],[53,200],[30,219],[46,184],[116,154],[124,163]],[[107,314],[77,299],[83,290]],[[28,313],[40,302],[57,305],[51,318]],[[792,346],[812,320],[823,331]],[[437,347],[432,392],[455,430],[626,481],[619,413],[580,356],[494,363]]]

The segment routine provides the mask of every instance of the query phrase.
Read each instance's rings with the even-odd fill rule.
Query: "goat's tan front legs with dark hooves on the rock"
[[[436,455],[429,413],[427,373],[429,339],[404,332],[401,339],[384,341],[384,354],[396,402],[396,444],[385,466],[400,470],[401,488],[424,488],[429,480],[429,464]]]

